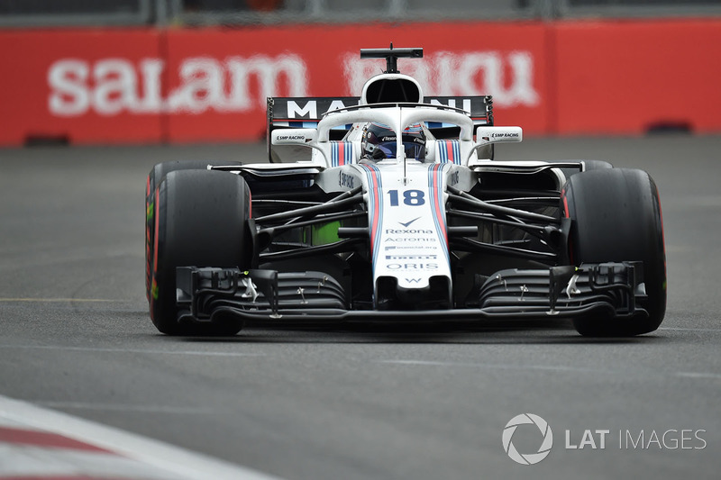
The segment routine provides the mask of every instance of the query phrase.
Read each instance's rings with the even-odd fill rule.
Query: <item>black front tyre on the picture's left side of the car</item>
[[[176,170],[160,182],[154,201],[151,319],[168,335],[234,335],[237,319],[180,323],[176,267],[240,267],[251,262],[250,190],[238,175]]]

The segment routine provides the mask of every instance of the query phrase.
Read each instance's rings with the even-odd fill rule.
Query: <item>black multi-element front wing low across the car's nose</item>
[[[322,272],[178,267],[180,322],[481,321],[647,317],[642,262],[513,268],[489,276],[478,304],[447,310],[373,310],[349,303]]]

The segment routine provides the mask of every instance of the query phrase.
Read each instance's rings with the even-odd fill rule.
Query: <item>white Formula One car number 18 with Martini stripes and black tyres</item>
[[[659,327],[665,253],[647,173],[494,160],[493,145],[522,131],[493,126],[489,96],[424,97],[397,71],[421,49],[360,55],[387,59],[360,97],[269,98],[268,163],[151,170],[146,286],[159,331],[553,318],[593,336]]]

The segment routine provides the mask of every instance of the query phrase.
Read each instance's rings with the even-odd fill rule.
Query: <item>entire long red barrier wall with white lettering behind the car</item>
[[[721,131],[721,19],[0,32],[0,145],[257,140],[269,95],[359,95],[383,60],[427,95],[494,95],[528,134]]]

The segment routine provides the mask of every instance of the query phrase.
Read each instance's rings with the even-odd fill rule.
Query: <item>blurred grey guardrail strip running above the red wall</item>
[[[0,28],[721,15],[717,0],[0,0]]]

